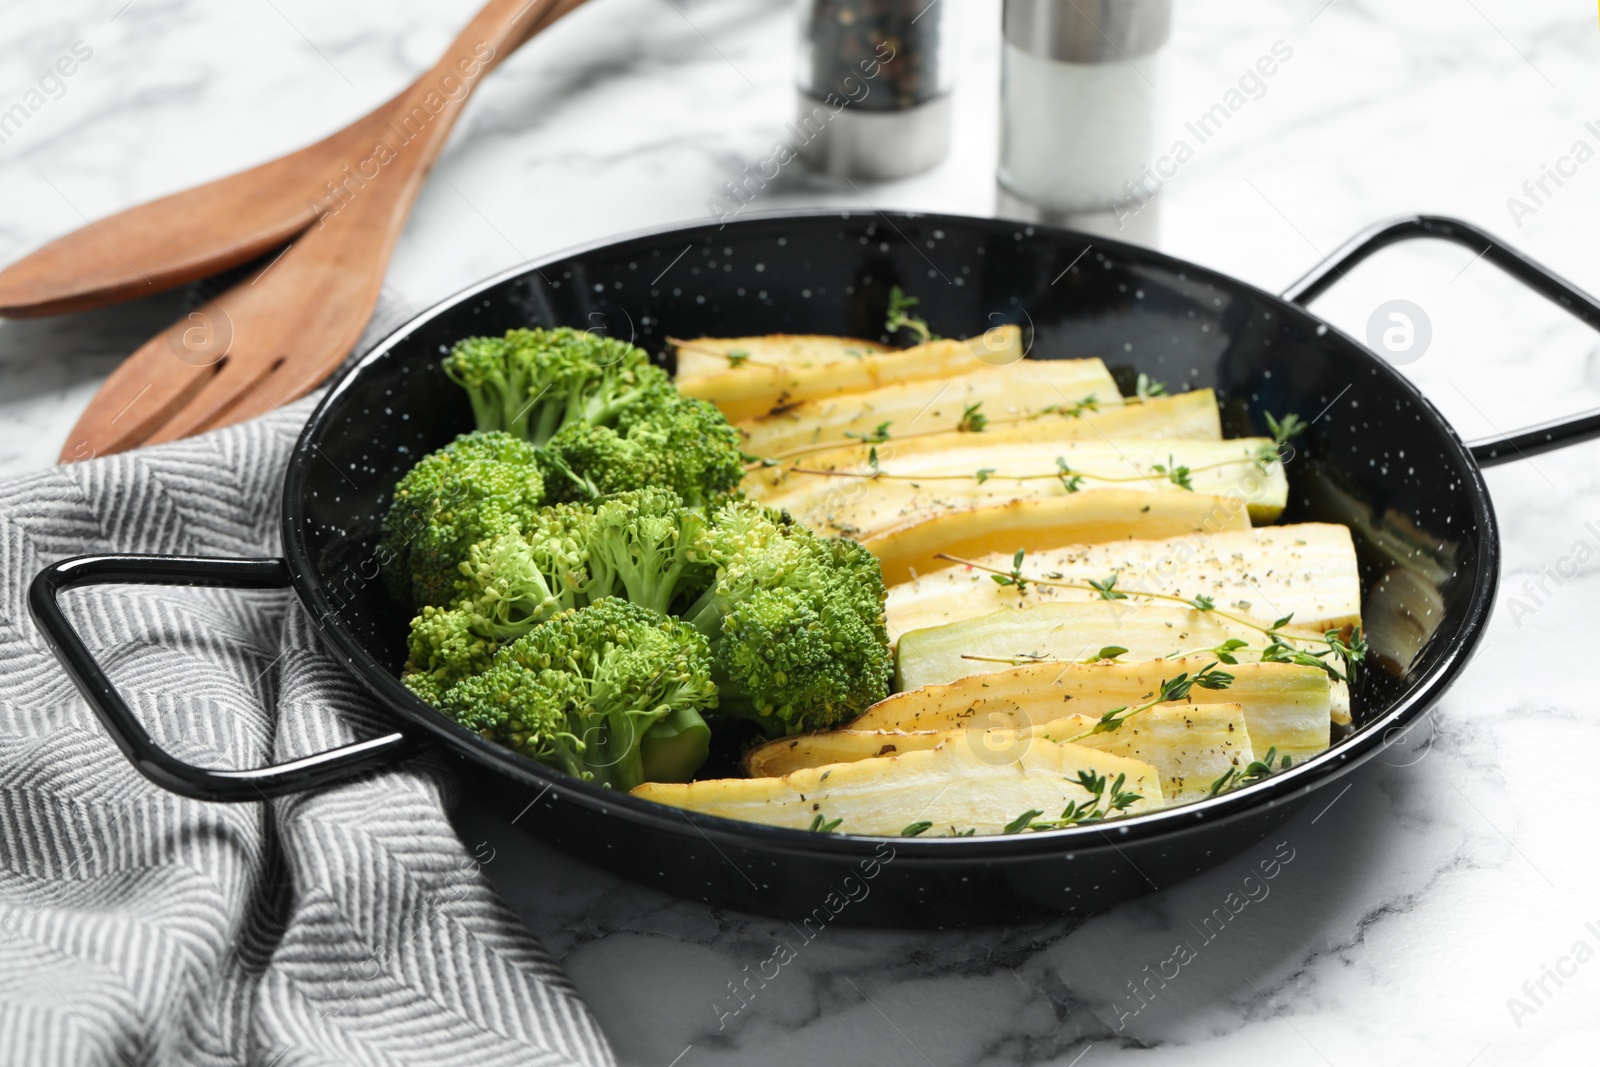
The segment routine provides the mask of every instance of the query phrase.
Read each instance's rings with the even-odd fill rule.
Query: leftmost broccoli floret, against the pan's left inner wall
[[[382,571],[397,600],[448,605],[467,550],[518,530],[544,501],[538,450],[510,434],[462,434],[424,456],[384,517]]]

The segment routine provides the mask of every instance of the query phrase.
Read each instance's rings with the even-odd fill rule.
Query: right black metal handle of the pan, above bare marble
[[[1379,222],[1363,234],[1357,234],[1338,251],[1312,267],[1304,278],[1285,290],[1283,299],[1294,304],[1309,304],[1326,293],[1350,267],[1374,251],[1419,237],[1454,242],[1470,248],[1480,258],[1517,278],[1539,296],[1570,312],[1592,330],[1600,331],[1600,301],[1554,270],[1528,259],[1515,248],[1502,245],[1478,227],[1437,214],[1392,219]],[[1493,467],[1509,459],[1538,456],[1539,453],[1554,451],[1565,445],[1578,445],[1597,437],[1600,437],[1600,410],[1541,422],[1515,434],[1474,442],[1467,448],[1480,467]]]

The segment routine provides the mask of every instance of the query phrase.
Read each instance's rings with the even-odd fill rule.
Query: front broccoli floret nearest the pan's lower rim
[[[699,712],[715,702],[698,630],[606,597],[533,627],[440,707],[533,760],[627,790],[646,774],[688,781],[709,739]]]

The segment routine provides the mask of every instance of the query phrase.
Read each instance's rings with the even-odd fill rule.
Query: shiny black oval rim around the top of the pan
[[[1454,454],[1448,458],[1458,462],[1464,480],[1462,490],[1470,493],[1474,520],[1482,531],[1482,553],[1477,561],[1472,589],[1469,590],[1462,606],[1462,619],[1451,646],[1445,649],[1440,659],[1426,670],[1410,693],[1386,707],[1350,737],[1336,742],[1328,750],[1317,753],[1310,760],[1293,766],[1288,771],[1243,789],[1176,808],[1117,819],[1114,822],[1069,827],[1061,830],[963,838],[893,838],[846,833],[811,833],[806,830],[773,827],[760,822],[744,822],[722,816],[690,813],[638,797],[630,797],[627,793],[618,793],[616,790],[589,782],[581,782],[560,771],[544,768],[542,765],[518,757],[517,753],[502,749],[445,718],[440,712],[406,689],[398,678],[390,675],[371,656],[371,653],[366,651],[362,641],[355,638],[349,627],[339,621],[338,609],[326,597],[326,585],[320,574],[317,574],[317,569],[309,558],[304,537],[306,520],[302,510],[302,491],[306,488],[306,470],[310,459],[317,454],[318,435],[339,398],[355,384],[363,368],[386,358],[397,346],[405,342],[418,326],[437,318],[474,296],[506,282],[539,272],[541,269],[560,266],[562,262],[582,254],[597,253],[618,245],[627,245],[637,240],[662,238],[669,235],[682,235],[685,240],[693,240],[730,227],[744,229],[773,222],[810,224],[824,219],[838,221],[858,218],[880,218],[890,221],[891,224],[894,221],[947,222],[952,227],[970,227],[974,224],[984,227],[1014,226],[1018,230],[1030,232],[1030,235],[1093,242],[1098,248],[1102,248],[1110,254],[1163,266],[1190,278],[1248,293],[1272,304],[1282,314],[1304,318],[1306,325],[1315,328],[1318,334],[1331,334],[1338,338],[1358,360],[1365,362],[1368,370],[1374,374],[1386,376],[1389,386],[1398,389],[1421,410],[1429,413],[1434,424],[1442,430],[1442,435],[1448,442],[1450,448],[1454,450]],[[1360,370],[1360,366],[1354,370]],[[893,845],[893,854],[896,857],[938,861],[941,864],[1035,861],[1062,853],[1070,857],[1077,853],[1115,849],[1122,843],[1146,841],[1160,837],[1178,837],[1184,832],[1197,830],[1206,825],[1250,817],[1259,814],[1262,809],[1298,805],[1310,793],[1326,787],[1378,755],[1378,752],[1387,749],[1397,729],[1410,728],[1414,720],[1426,715],[1443,696],[1443,693],[1454,685],[1456,678],[1466,669],[1467,662],[1470,662],[1478,645],[1482,643],[1483,632],[1493,611],[1493,600],[1499,584],[1501,566],[1499,523],[1494,515],[1488,485],[1483,480],[1482,469],[1477,461],[1472,459],[1467,445],[1456,434],[1454,427],[1410,379],[1395,371],[1381,357],[1366,349],[1366,346],[1338,330],[1334,325],[1322,320],[1309,309],[1250,285],[1248,282],[1221,274],[1211,267],[1150,248],[1106,238],[1098,234],[1090,235],[1070,229],[987,216],[963,216],[930,211],[854,211],[845,208],[760,211],[741,216],[739,219],[725,224],[680,222],[632,230],[595,242],[584,242],[558,253],[542,256],[536,261],[526,261],[507,267],[432,304],[395,328],[363,357],[349,363],[328,387],[322,402],[301,429],[291,451],[283,482],[280,530],[283,553],[288,560],[296,595],[299,595],[301,601],[306,605],[312,619],[317,622],[318,630],[338,649],[352,673],[355,673],[357,678],[373,693],[373,696],[378,697],[378,701],[384,705],[384,710],[398,715],[406,725],[424,729],[432,739],[445,742],[446,749],[453,750],[453,753],[486,765],[507,777],[539,789],[541,792],[533,803],[538,803],[549,795],[557,800],[594,808],[603,814],[626,817],[632,822],[640,822],[666,833],[683,835],[686,830],[693,830],[696,835],[706,837],[715,845],[776,849],[786,854],[805,853],[832,861],[878,857],[885,843]]]

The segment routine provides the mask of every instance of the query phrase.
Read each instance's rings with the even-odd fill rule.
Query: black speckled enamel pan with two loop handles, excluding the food
[[[1600,328],[1592,298],[1438,218],[1355,238],[1282,298],[1144,248],[995,219],[806,213],[646,234],[477,285],[349,368],[290,461],[283,558],[80,557],[38,574],[30,608],[123,753],[187,797],[317,789],[432,744],[461,761],[470,787],[504,793],[509,809],[530,805],[518,821],[530,833],[736,910],[803,917],[850,897],[843,921],[946,925],[1099,909],[1261,840],[1424,713],[1477,648],[1494,595],[1499,533],[1480,467],[1600,435],[1590,413],[1469,448],[1389,365],[1299,306],[1413,237],[1467,245]],[[587,785],[461,729],[400,685],[410,611],[387,600],[373,550],[395,480],[470,429],[466,397],[438,370],[451,342],[530,323],[603,328],[651,352],[669,331],[877,336],[891,285],[922,294],[947,336],[1014,322],[1032,330],[1034,358],[1101,355],[1174,390],[1211,386],[1229,435],[1261,434],[1264,411],[1312,421],[1283,520],[1355,531],[1379,665],[1355,693],[1350,734],[1264,782],[1109,825],[885,840],[685,814]],[[59,590],[94,582],[293,587],[395,731],[253,771],[182,763],[134,720],[56,605]]]

